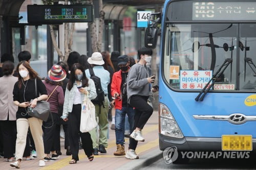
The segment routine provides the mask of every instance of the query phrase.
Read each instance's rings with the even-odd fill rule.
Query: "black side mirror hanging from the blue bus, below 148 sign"
[[[158,29],[147,27],[145,31],[145,47],[155,48],[157,46]]]

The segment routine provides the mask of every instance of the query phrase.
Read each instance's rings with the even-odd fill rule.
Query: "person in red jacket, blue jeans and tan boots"
[[[127,103],[126,94],[126,78],[130,69],[129,57],[122,55],[117,58],[119,71],[115,72],[111,83],[111,95],[115,99],[115,133],[116,133],[116,145],[117,151],[114,152],[115,156],[125,155],[124,151],[124,123],[125,114],[129,118],[130,131],[132,132],[134,125],[134,109]]]

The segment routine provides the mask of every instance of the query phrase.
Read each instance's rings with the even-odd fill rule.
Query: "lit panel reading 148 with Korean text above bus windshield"
[[[195,2],[192,20],[255,20],[255,2]]]

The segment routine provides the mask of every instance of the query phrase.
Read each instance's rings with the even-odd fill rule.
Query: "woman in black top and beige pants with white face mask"
[[[28,114],[28,107],[34,108],[38,101],[48,98],[46,86],[38,77],[37,72],[31,68],[27,61],[19,62],[16,68],[18,81],[13,88],[13,103],[18,106],[16,112],[17,139],[15,157],[16,162],[11,163],[12,167],[20,168],[23,153],[26,147],[28,128],[30,128],[35,142],[39,166],[45,166],[44,142],[42,140],[42,120],[31,117]],[[36,83],[35,83],[36,81]],[[37,87],[35,87],[35,85]],[[35,89],[37,91],[35,91]],[[32,102],[30,103],[30,101]]]

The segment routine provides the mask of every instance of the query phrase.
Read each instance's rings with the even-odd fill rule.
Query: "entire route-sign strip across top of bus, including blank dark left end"
[[[255,21],[253,0],[174,1],[168,4],[166,21]]]

